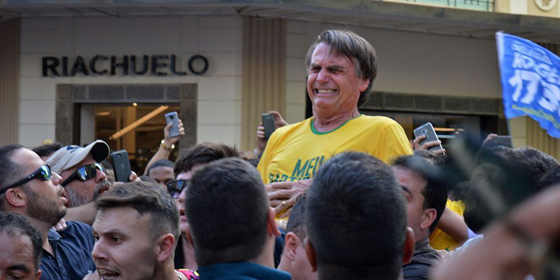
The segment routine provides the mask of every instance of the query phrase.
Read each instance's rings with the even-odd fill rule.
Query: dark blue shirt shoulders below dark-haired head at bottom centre
[[[200,280],[290,280],[292,276],[278,269],[253,262],[223,262],[198,267]]]

